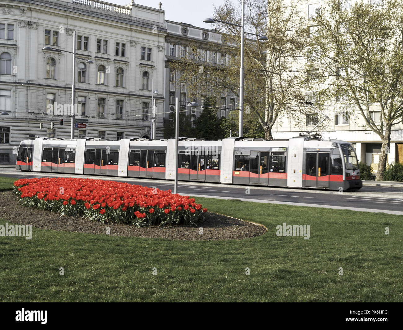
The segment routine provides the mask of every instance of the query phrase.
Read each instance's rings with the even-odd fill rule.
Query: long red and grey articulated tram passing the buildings
[[[16,169],[174,180],[174,150],[174,138],[38,137],[21,142]],[[179,138],[178,180],[344,191],[362,187],[353,146],[319,136]]]

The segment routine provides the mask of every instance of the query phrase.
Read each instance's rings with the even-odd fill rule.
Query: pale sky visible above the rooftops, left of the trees
[[[130,0],[104,0],[105,2],[124,6],[131,3]],[[207,17],[212,17],[214,6],[224,4],[224,0],[135,0],[136,4],[158,8],[158,3],[162,3],[162,10],[165,11],[165,19],[169,21],[189,23],[205,29],[211,29],[212,25],[204,23]]]

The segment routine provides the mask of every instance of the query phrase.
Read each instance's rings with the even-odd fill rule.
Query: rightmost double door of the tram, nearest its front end
[[[305,158],[305,186],[329,188],[328,152],[307,152]]]

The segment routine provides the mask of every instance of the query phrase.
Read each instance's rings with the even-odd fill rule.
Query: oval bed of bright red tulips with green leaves
[[[125,182],[84,178],[33,178],[14,182],[25,205],[101,222],[195,224],[207,209],[194,198]]]

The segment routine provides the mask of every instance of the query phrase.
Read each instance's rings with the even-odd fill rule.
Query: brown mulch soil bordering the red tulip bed
[[[36,209],[19,203],[19,197],[12,191],[0,192],[0,218],[19,225],[36,228],[105,234],[110,227],[110,235],[134,236],[142,238],[167,238],[177,240],[231,240],[263,235],[266,227],[242,221],[226,215],[205,213],[205,219],[196,226],[141,227],[123,223],[101,223],[75,216],[60,216],[52,211]],[[199,234],[199,228],[203,234]]]

